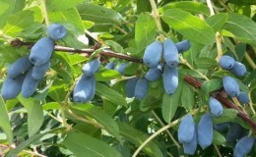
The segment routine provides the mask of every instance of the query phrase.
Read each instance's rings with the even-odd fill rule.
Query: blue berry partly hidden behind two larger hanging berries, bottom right
[[[192,140],[189,143],[183,143],[183,149],[184,153],[188,155],[193,155],[196,152],[197,149],[197,131],[196,131],[196,126],[194,127],[194,135]]]

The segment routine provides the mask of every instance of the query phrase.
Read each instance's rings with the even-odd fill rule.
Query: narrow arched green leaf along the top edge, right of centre
[[[174,2],[174,3],[169,3],[163,6],[162,8],[160,8],[160,10],[161,9],[163,11],[168,9],[180,9],[186,12],[190,12],[192,14],[204,14],[206,16],[210,16],[209,8],[205,4],[199,3],[199,2],[190,2],[190,1]]]

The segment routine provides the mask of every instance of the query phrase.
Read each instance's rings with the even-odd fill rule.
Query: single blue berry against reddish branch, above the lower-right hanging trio
[[[211,113],[215,116],[215,117],[220,117],[223,115],[224,112],[224,107],[221,104],[220,101],[218,101],[216,98],[214,98],[213,96],[211,96],[209,98],[209,107],[211,110]]]

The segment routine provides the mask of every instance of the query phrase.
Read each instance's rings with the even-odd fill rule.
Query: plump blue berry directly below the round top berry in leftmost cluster
[[[49,62],[54,48],[54,42],[49,37],[42,37],[33,46],[30,61],[34,66],[41,66]]]

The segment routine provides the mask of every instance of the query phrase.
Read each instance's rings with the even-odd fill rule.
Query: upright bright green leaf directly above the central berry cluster
[[[139,16],[135,25],[135,42],[138,49],[144,49],[156,39],[156,22],[149,13]]]

